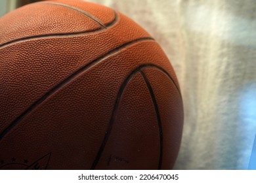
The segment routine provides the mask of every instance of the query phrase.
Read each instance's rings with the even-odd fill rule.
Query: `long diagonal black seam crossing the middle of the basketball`
[[[143,37],[140,39],[135,39],[133,41],[129,41],[126,42],[125,44],[122,44],[121,46],[118,46],[117,48],[114,48],[114,50],[111,50],[110,52],[104,54],[103,56],[100,56],[99,58],[91,61],[91,63],[88,63],[87,65],[84,65],[83,67],[81,67],[80,69],[78,69],[77,71],[75,71],[72,75],[68,76],[67,78],[65,78],[64,80],[62,80],[62,82],[60,82],[59,84],[57,84],[56,86],[54,86],[51,90],[49,90],[47,93],[45,93],[45,95],[43,95],[41,98],[37,99],[37,101],[35,101],[35,103],[33,103],[30,107],[28,107],[24,112],[22,112],[22,114],[20,114],[20,116],[18,116],[9,126],[7,126],[1,133],[0,133],[0,141],[3,139],[3,137],[5,137],[5,135],[7,135],[7,133],[9,133],[9,131],[11,131],[11,129],[16,126],[17,124],[19,124],[19,122],[22,121],[23,118],[25,118],[25,116],[27,116],[28,114],[30,114],[30,112],[32,112],[37,106],[39,106],[41,103],[43,103],[43,101],[45,101],[49,96],[51,96],[53,93],[55,93],[56,91],[58,91],[60,88],[62,88],[63,86],[66,86],[66,84],[68,84],[70,81],[72,81],[76,76],[78,76],[79,74],[83,73],[83,71],[86,71],[87,69],[93,67],[94,65],[96,65],[97,63],[100,63],[101,61],[110,58],[111,56],[114,56],[115,54],[117,54],[118,52],[120,52],[121,50],[123,50],[124,48],[127,48],[127,46],[131,46],[133,44],[136,44],[137,42],[143,42],[143,41],[154,41],[154,39],[152,37]]]

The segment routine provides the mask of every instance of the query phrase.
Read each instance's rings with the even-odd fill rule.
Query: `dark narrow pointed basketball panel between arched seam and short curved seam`
[[[117,96],[96,169],[158,169],[160,135],[154,103],[139,71],[127,80]]]

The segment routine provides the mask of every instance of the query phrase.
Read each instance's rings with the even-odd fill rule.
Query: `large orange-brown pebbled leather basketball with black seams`
[[[127,16],[32,3],[0,19],[0,58],[0,169],[173,169],[177,76]]]

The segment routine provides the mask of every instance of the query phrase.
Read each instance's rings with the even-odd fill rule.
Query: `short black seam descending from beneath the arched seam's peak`
[[[155,112],[156,112],[156,118],[158,120],[158,130],[159,130],[159,137],[160,137],[160,146],[159,146],[160,155],[159,155],[159,160],[158,160],[158,170],[160,170],[161,169],[161,164],[162,164],[162,161],[163,161],[163,128],[161,126],[160,112],[158,110],[158,103],[156,102],[156,97],[154,95],[154,92],[153,92],[153,89],[150,85],[150,82],[148,81],[148,78],[146,78],[146,75],[142,71],[140,71],[140,74],[144,78],[144,81],[146,82],[146,86],[148,88],[148,91],[150,92],[150,96],[151,96],[152,102],[154,104],[154,109],[155,109]]]

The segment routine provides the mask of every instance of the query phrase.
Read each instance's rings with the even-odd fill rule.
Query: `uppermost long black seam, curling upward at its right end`
[[[111,27],[112,25],[114,25],[117,22],[118,19],[118,14],[115,12],[115,18],[112,22],[110,22],[108,25],[106,25],[106,27]],[[16,42],[20,42],[20,41],[28,41],[30,39],[39,39],[39,38],[47,38],[47,37],[69,37],[72,35],[83,35],[85,33],[95,33],[97,31],[101,31],[102,27],[98,28],[98,29],[93,29],[90,31],[81,31],[81,32],[75,32],[75,33],[56,33],[56,34],[46,34],[46,35],[33,35],[30,37],[22,37],[20,39],[14,39],[12,41],[9,42],[5,42],[3,44],[0,44],[0,49],[3,46],[8,46],[9,44],[13,44]]]

